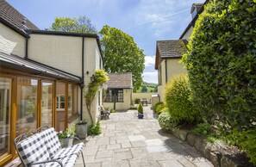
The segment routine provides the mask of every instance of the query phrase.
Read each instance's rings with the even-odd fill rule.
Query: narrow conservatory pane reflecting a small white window
[[[66,113],[65,113],[65,87],[66,84],[64,83],[57,83],[56,84],[56,130],[57,131],[64,131],[65,124],[66,124]]]

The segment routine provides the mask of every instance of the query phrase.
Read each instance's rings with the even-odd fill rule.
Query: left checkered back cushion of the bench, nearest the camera
[[[17,151],[20,153],[24,163],[28,166],[50,159],[49,152],[47,152],[47,146],[40,133],[36,133],[19,142],[17,144]],[[39,166],[43,166],[43,164]]]

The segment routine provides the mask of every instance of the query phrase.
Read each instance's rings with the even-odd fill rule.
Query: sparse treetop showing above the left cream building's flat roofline
[[[52,24],[52,27],[48,28],[48,30],[97,34],[97,29],[91,24],[91,19],[85,15],[80,15],[78,18],[57,16]]]

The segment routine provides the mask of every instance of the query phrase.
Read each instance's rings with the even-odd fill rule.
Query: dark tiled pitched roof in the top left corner
[[[12,28],[21,31],[25,34],[25,30],[39,29],[33,22],[30,22],[24,15],[18,10],[13,8],[5,0],[0,0],[0,18],[1,22],[8,23]]]

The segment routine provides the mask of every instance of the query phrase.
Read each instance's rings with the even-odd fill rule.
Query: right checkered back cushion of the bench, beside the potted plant
[[[48,152],[50,154],[50,157],[52,158],[61,149],[58,135],[53,127],[42,131],[41,135],[44,137]]]

